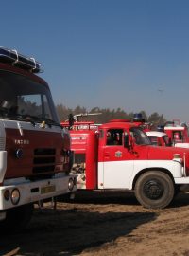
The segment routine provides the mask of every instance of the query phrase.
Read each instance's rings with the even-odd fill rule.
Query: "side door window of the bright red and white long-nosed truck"
[[[107,145],[123,145],[123,130],[122,129],[109,129],[107,131]]]

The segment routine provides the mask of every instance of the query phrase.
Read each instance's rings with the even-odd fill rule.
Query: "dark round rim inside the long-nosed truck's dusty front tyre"
[[[158,200],[163,196],[163,184],[158,180],[148,180],[144,185],[146,197],[151,200]]]

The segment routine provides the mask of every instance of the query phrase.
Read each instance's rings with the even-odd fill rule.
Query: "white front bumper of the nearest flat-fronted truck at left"
[[[52,198],[60,194],[75,192],[77,190],[76,176],[57,175],[54,178],[30,182],[24,178],[14,180],[9,185],[0,187],[0,210],[8,210],[21,205],[38,202],[43,199]],[[71,186],[72,185],[72,186]],[[17,189],[20,192],[20,199],[15,205],[12,203],[11,196],[5,199],[5,192],[13,192]]]

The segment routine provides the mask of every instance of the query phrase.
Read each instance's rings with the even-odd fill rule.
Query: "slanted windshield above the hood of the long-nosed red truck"
[[[130,128],[130,135],[134,138],[134,142],[137,145],[150,145],[151,142],[147,137],[146,133],[143,132],[142,129],[138,127],[131,127]]]

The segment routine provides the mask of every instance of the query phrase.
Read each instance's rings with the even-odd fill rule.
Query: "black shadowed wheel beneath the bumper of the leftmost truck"
[[[33,204],[10,209],[7,211],[6,219],[0,222],[0,229],[5,229],[5,231],[24,229],[30,221],[32,213]]]

